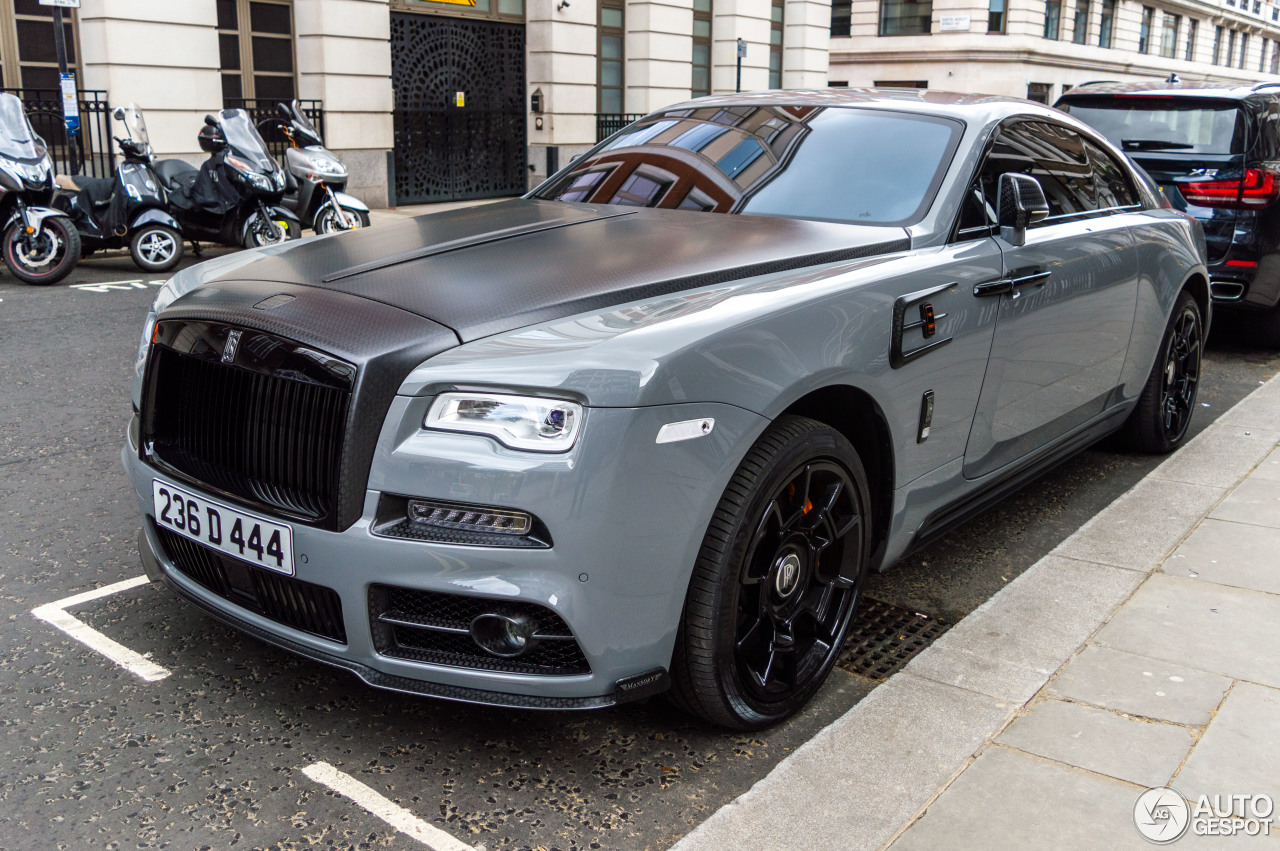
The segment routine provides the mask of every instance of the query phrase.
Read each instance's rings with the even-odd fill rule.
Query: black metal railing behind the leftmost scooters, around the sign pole
[[[63,120],[63,93],[56,88],[0,88],[17,95],[27,110],[31,127],[49,146],[59,174],[108,177],[115,170],[115,146],[111,141],[111,109],[106,92],[92,88],[77,91],[81,132],[67,136]]]

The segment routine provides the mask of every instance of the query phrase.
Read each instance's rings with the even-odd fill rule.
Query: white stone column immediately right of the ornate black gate
[[[595,143],[595,44],[599,6],[595,0],[527,0],[526,102],[529,104],[530,179],[547,175],[548,148],[557,148],[559,165]],[[541,96],[541,113],[532,111],[532,95]],[[541,128],[538,127],[541,119]]]

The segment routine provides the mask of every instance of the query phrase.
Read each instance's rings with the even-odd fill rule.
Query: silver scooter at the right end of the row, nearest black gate
[[[284,206],[316,233],[367,228],[369,207],[343,192],[347,166],[324,146],[298,101],[275,107],[280,113],[276,127],[289,139],[284,152]]]

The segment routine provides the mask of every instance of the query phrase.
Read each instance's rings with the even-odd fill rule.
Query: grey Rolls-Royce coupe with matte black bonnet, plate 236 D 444
[[[1178,445],[1203,247],[1036,104],[673,106],[524,198],[168,282],[123,450],[142,561],[374,686],[760,727],[868,571],[1110,431]]]

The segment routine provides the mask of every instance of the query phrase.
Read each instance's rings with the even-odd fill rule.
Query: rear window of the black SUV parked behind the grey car
[[[1244,136],[1235,101],[1120,95],[1059,104],[1130,154],[1239,154]]]

